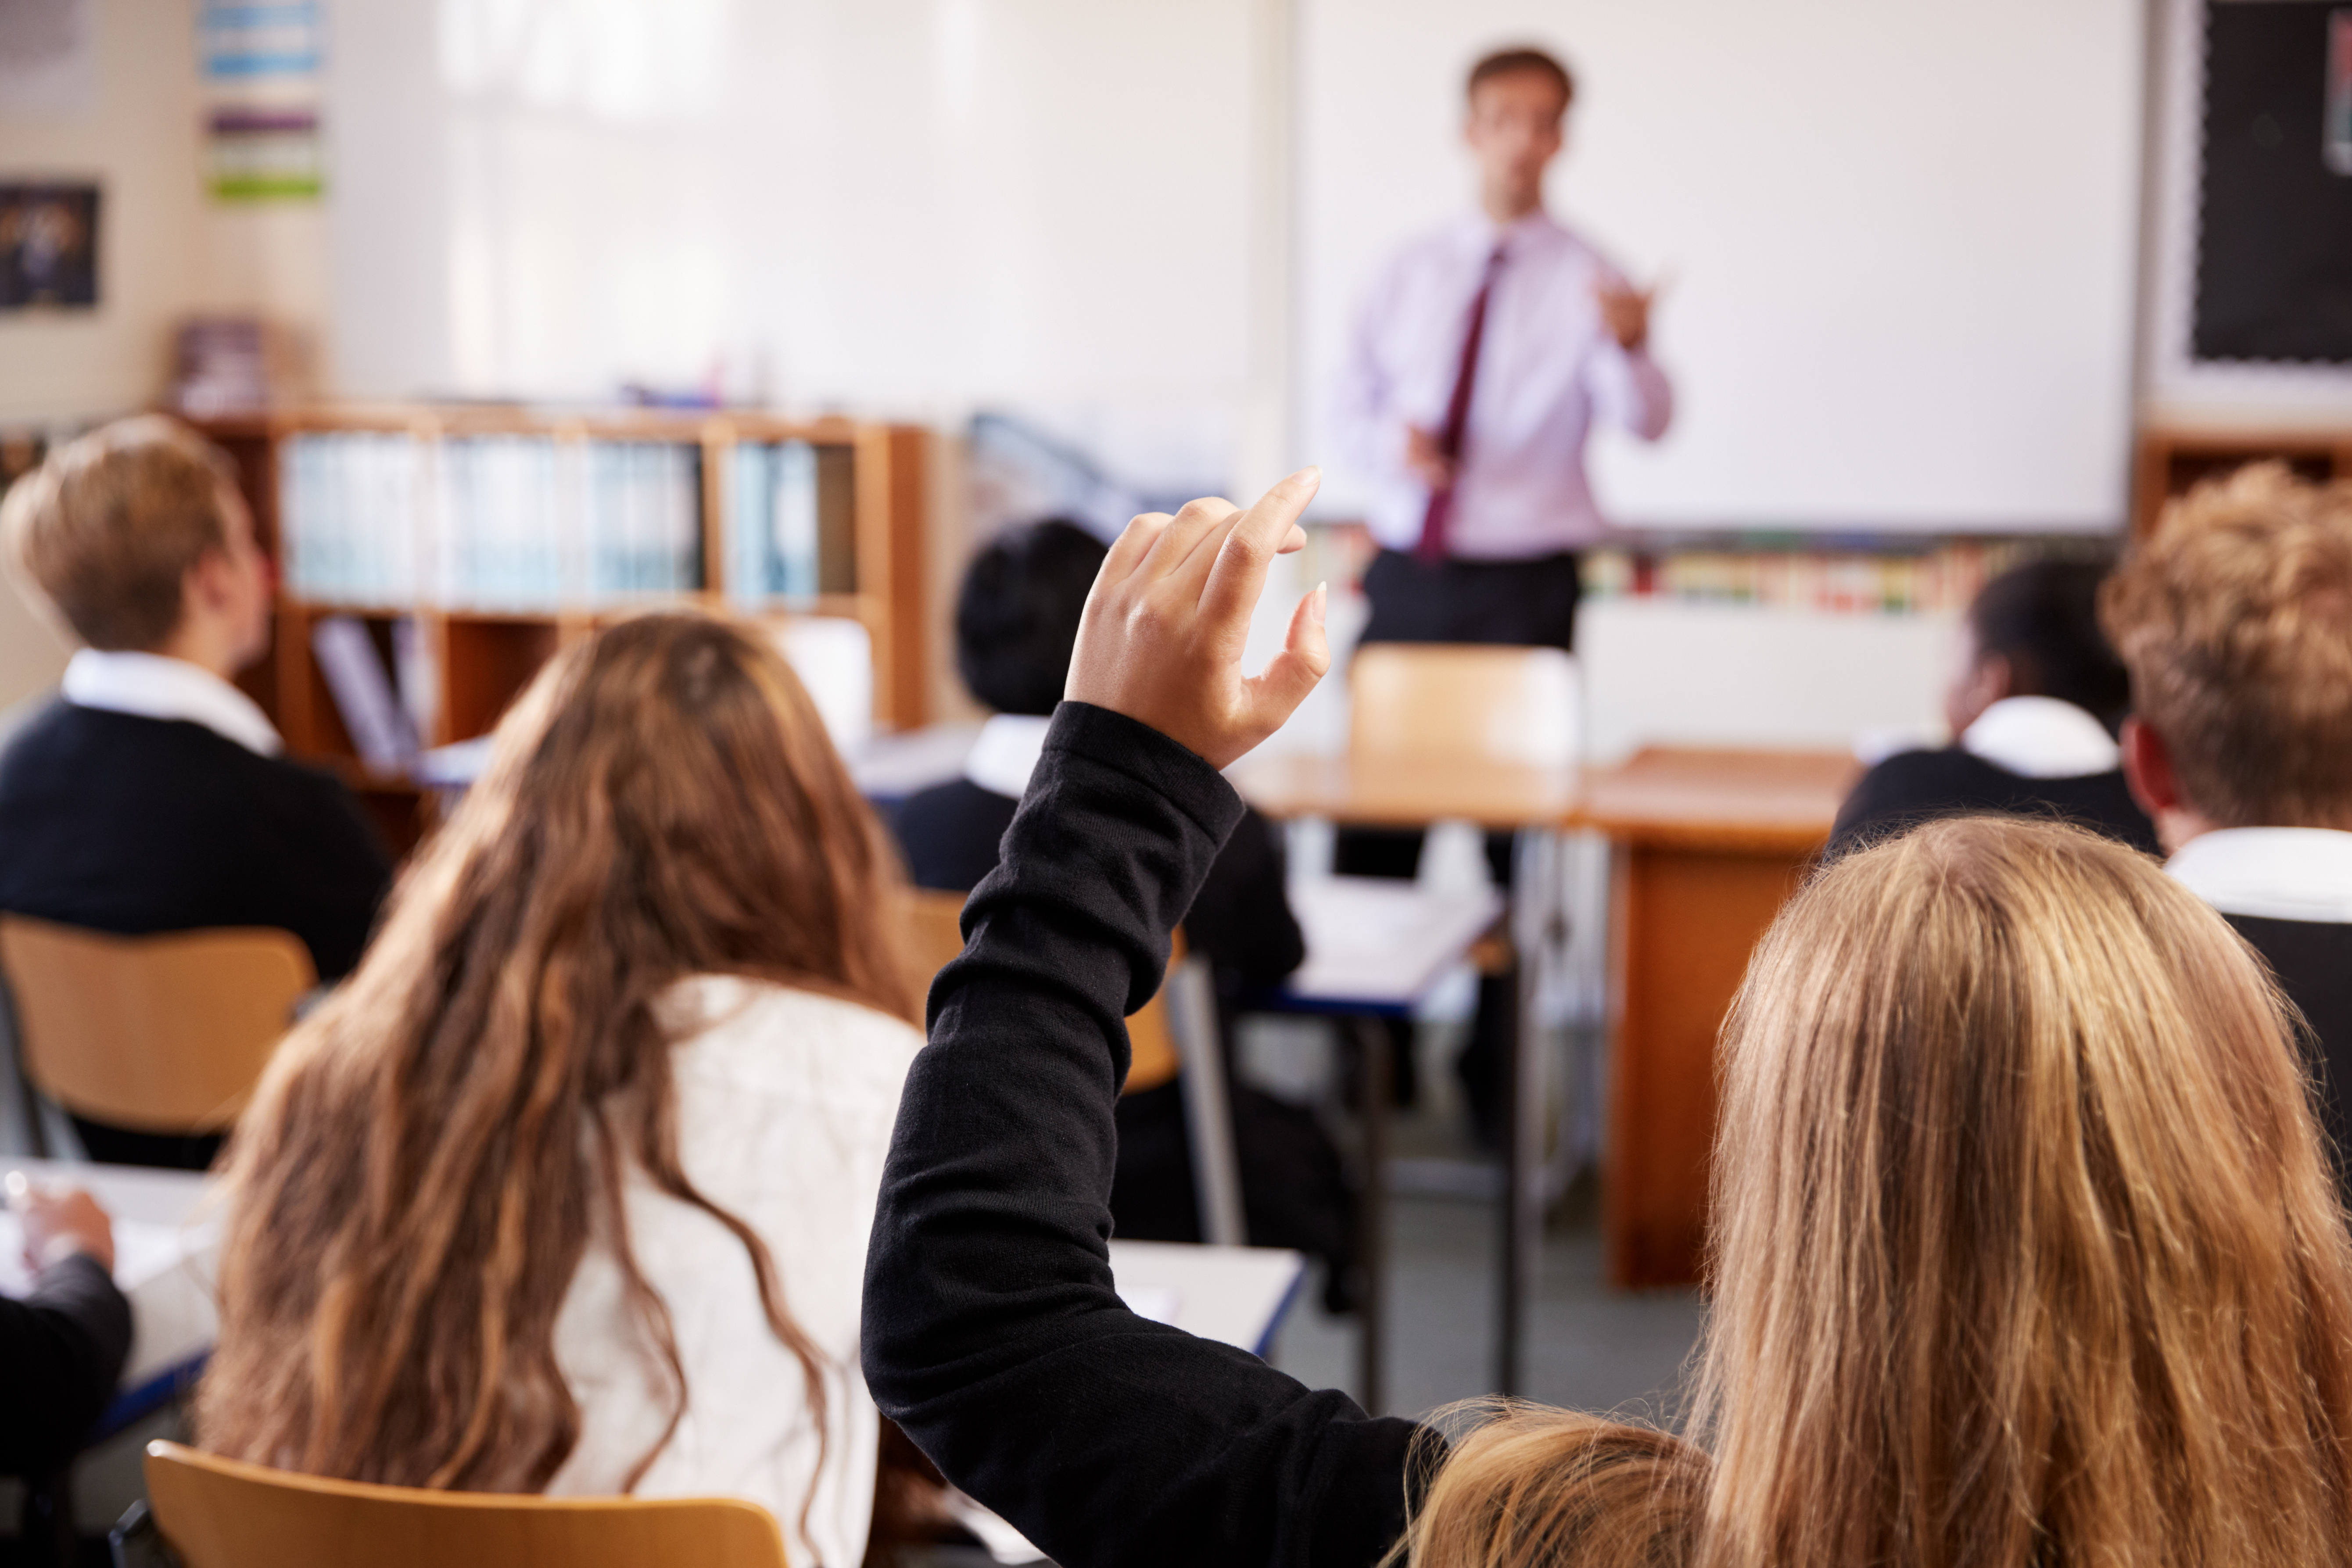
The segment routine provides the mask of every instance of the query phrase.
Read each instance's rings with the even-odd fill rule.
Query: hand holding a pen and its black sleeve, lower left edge
[[[89,1436],[132,1349],[132,1305],[115,1288],[115,1232],[80,1187],[12,1197],[35,1286],[0,1298],[0,1474],[31,1476]]]

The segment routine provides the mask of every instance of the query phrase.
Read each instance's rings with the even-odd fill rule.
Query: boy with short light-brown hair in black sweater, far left
[[[320,978],[350,973],[390,863],[233,684],[270,646],[270,562],[228,458],[169,418],[118,421],[9,489],[0,541],[87,644],[0,755],[0,910],[118,936],[278,926]],[[108,1164],[205,1168],[221,1145],[75,1131]]]

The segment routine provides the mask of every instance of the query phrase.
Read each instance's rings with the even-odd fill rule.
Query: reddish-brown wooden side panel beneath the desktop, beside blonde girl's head
[[[1715,1039],[1757,938],[1809,860],[1632,844],[1618,851],[1623,1011],[1602,1180],[1609,1284],[1698,1284],[1715,1145]]]

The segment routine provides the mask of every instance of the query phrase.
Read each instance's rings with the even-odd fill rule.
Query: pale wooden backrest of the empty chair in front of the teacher
[[[1583,712],[1559,649],[1376,642],[1348,668],[1348,755],[1357,762],[1573,766]]]

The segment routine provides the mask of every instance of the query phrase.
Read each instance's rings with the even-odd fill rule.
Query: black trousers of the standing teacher
[[[1364,642],[1486,642],[1505,646],[1576,646],[1576,602],[1583,576],[1576,555],[1541,555],[1524,562],[1439,562],[1423,567],[1402,550],[1381,550],[1364,569],[1371,621]],[[1395,827],[1345,827],[1331,846],[1331,870],[1341,877],[1414,877],[1421,870],[1421,832]],[[1512,835],[1486,835],[1486,865],[1496,886],[1510,886]],[[1392,1025],[1397,1098],[1414,1100],[1416,1072],[1411,1023]],[[1517,1027],[1517,978],[1482,976],[1470,1044],[1454,1063],[1470,1100],[1470,1124],[1479,1143],[1503,1147],[1503,1070],[1510,1063],[1510,1030]]]

